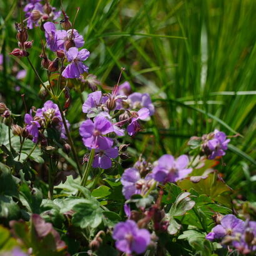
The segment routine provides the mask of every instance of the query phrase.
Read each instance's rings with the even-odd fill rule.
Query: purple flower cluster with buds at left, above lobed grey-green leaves
[[[33,111],[35,112],[34,117],[32,115]],[[44,138],[43,131],[48,127],[54,127],[54,129],[59,131],[60,137],[66,139],[66,131],[61,119],[59,107],[52,101],[46,101],[44,107],[37,109],[37,111],[31,109],[30,113],[25,115],[24,121],[26,131],[31,135],[34,143],[39,140],[39,137]],[[69,127],[69,122],[67,122],[67,127]]]

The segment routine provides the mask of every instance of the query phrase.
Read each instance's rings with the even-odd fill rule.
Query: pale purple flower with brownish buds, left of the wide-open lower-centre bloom
[[[122,194],[126,199],[130,199],[132,195],[145,195],[154,183],[152,174],[147,174],[145,179],[140,177],[139,170],[132,167],[124,171],[121,177],[123,185]]]

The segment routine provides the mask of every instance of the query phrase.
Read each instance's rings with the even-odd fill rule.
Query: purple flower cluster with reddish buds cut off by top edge
[[[23,9],[29,29],[45,21],[55,21],[61,15],[61,11],[56,11],[56,8],[52,7],[48,1],[44,5],[41,2],[41,0],[28,0]]]

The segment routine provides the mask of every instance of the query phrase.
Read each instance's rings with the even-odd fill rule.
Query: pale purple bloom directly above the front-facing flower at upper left
[[[74,42],[77,48],[84,46],[84,38],[77,32],[76,29],[58,30],[56,31],[57,46],[59,50],[65,49],[65,44],[68,41]]]

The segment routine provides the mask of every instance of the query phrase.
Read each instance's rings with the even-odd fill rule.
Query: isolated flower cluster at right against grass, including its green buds
[[[208,159],[215,159],[225,155],[225,150],[228,148],[230,139],[224,132],[215,129],[210,134],[204,134],[202,137],[192,137],[189,140],[189,145],[193,150],[201,155],[206,155]]]

